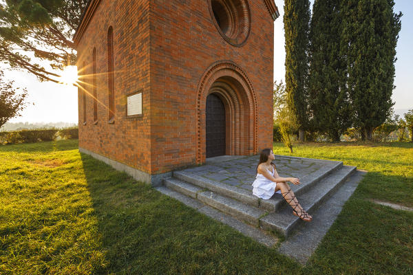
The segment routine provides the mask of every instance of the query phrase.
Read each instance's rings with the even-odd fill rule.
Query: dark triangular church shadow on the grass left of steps
[[[301,267],[81,153],[104,265],[93,274],[297,274]]]

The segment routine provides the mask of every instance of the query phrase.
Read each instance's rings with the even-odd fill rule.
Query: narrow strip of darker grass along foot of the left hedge
[[[0,145],[0,152],[50,153],[53,151],[69,151],[77,148],[78,140],[58,140],[52,142]]]

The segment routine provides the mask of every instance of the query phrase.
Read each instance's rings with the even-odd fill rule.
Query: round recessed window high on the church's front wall
[[[210,0],[209,12],[222,37],[240,47],[250,30],[250,10],[246,0]]]

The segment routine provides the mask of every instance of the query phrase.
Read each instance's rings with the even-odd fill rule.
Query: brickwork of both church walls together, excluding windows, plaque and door
[[[246,155],[272,146],[273,19],[264,1],[248,1],[251,30],[241,47],[222,38],[207,0],[121,3],[100,1],[78,42],[78,64],[86,64],[83,74],[92,74],[94,47],[98,72],[97,124],[93,100],[87,96],[83,125],[79,91],[80,147],[151,175],[204,162],[204,101],[213,78],[225,74],[231,78],[229,85],[239,90],[235,94],[240,100],[240,110],[233,108],[226,122],[232,125],[226,151]],[[107,122],[105,108],[110,25],[114,30],[114,124]],[[223,69],[215,72],[214,65]],[[84,86],[93,94],[92,77],[85,80],[89,84]],[[126,118],[126,96],[138,89],[142,89],[143,115]]]

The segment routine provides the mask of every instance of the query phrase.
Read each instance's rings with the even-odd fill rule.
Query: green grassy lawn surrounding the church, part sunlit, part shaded
[[[413,274],[412,144],[295,146],[369,170],[306,266],[77,145],[0,146],[0,274]]]

